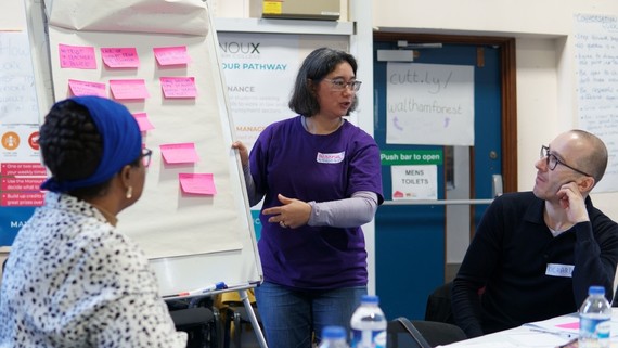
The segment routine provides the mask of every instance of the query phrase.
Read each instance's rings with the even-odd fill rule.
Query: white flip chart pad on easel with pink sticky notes
[[[146,114],[154,126],[143,132],[145,146],[153,150],[144,193],[118,216],[118,230],[144,249],[162,295],[218,282],[231,288],[261,282],[242,168],[231,150],[234,127],[207,4],[55,0],[46,2],[46,13],[54,100],[73,95],[75,81],[103,83],[113,99],[119,94],[112,91],[112,80],[140,80],[145,87],[144,96],[117,100],[133,114]],[[72,65],[70,60],[83,56],[67,57],[66,47],[76,55],[81,55],[80,48],[91,48],[95,67],[76,67],[85,61]],[[155,51],[170,47],[185,48],[189,61],[162,65]],[[110,67],[102,48],[134,48],[138,67]],[[165,77],[194,79],[197,95],[166,98]],[[180,143],[192,144],[197,159],[166,160],[163,145]],[[204,173],[211,175],[216,194],[190,193],[179,179]]]

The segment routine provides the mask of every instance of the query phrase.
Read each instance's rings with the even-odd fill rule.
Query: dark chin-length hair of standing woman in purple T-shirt
[[[306,117],[318,114],[320,112],[320,103],[318,103],[316,98],[313,86],[332,73],[340,63],[350,64],[352,72],[355,75],[357,74],[357,60],[347,52],[323,47],[309,53],[300,69],[298,69],[294,91],[287,104],[289,108]],[[357,96],[355,94],[352,105],[346,116],[355,111],[356,107]]]

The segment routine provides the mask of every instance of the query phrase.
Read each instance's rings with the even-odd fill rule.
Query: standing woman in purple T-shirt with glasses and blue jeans
[[[361,225],[384,201],[379,150],[345,120],[357,105],[357,62],[346,52],[311,52],[289,108],[268,126],[250,155],[240,151],[250,205],[263,197],[258,248],[265,282],[256,299],[270,347],[310,348],[322,327],[349,328],[366,294]]]

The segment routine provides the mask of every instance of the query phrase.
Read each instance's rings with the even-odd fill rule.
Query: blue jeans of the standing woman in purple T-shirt
[[[256,300],[269,348],[311,348],[320,341],[326,325],[346,327],[366,294],[366,286],[329,291],[297,291],[263,282],[256,287]]]

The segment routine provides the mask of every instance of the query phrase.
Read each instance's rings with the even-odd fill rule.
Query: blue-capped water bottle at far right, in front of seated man
[[[579,309],[579,348],[608,348],[611,306],[605,287],[591,286]]]

